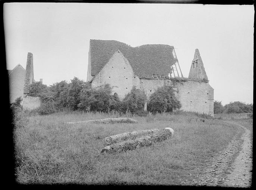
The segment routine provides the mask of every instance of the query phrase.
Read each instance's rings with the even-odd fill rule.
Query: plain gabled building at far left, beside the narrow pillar
[[[9,70],[10,71],[10,70]],[[25,69],[18,64],[9,73],[9,100],[14,102],[16,98],[23,97]]]

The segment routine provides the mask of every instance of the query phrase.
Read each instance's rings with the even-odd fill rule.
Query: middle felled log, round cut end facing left
[[[154,134],[154,132],[159,132],[158,129],[148,129],[141,131],[133,131],[133,132],[124,132],[117,135],[112,135],[104,138],[104,142],[106,145],[111,145],[116,142],[126,141],[126,140],[134,140],[137,137]]]

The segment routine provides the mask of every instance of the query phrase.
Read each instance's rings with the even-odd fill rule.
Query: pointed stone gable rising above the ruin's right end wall
[[[194,59],[192,60],[192,64],[189,71],[189,78],[208,81],[208,77],[206,75],[205,68],[203,66],[203,61],[198,49],[195,50]]]

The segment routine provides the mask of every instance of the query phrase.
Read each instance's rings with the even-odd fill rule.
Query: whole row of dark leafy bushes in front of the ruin
[[[47,115],[56,111],[83,110],[83,111],[117,111],[138,114],[144,111],[146,94],[143,90],[133,86],[131,91],[121,101],[117,93],[112,95],[109,84],[92,88],[88,82],[74,77],[70,83],[67,81],[56,82],[47,86],[41,82],[33,82],[30,85],[29,96],[37,96],[41,99],[41,107],[37,112]],[[170,86],[159,87],[148,101],[148,111],[173,112],[181,108],[181,104],[174,95]]]

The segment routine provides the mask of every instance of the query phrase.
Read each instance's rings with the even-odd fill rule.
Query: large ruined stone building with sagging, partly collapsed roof
[[[132,86],[147,98],[159,86],[171,85],[181,109],[213,115],[214,89],[209,85],[199,50],[196,49],[189,78],[173,76],[177,56],[173,46],[142,45],[131,47],[115,40],[90,40],[87,81],[92,87],[109,83],[120,99]],[[175,65],[175,67],[174,67]]]

